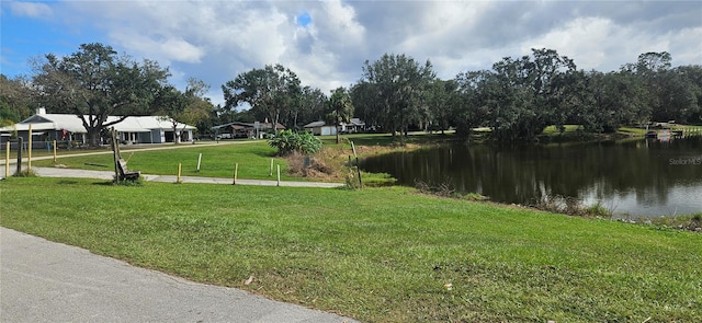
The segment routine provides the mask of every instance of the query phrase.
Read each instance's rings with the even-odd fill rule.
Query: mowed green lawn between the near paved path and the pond
[[[401,187],[27,177],[0,198],[3,227],[363,322],[702,322],[699,233]]]

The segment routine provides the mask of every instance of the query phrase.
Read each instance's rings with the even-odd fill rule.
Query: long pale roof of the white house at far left
[[[116,122],[120,116],[107,116],[107,123]],[[35,114],[13,126],[2,127],[0,131],[26,131],[30,124],[32,130],[67,130],[70,132],[88,132],[82,120],[77,115],[71,114]],[[193,130],[193,126],[177,123],[178,129]],[[154,129],[172,129],[171,118],[167,116],[128,116],[124,120],[113,126],[121,132],[149,132]]]

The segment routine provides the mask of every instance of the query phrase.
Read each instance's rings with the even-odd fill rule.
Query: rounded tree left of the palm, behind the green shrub
[[[257,116],[271,120],[276,132],[281,116],[299,105],[302,93],[297,74],[280,64],[240,73],[222,85],[222,91],[226,108],[248,103]]]

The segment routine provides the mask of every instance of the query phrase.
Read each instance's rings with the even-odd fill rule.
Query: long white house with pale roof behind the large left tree
[[[107,123],[120,119],[117,116],[109,116]],[[120,140],[128,143],[161,143],[173,142],[172,119],[162,116],[128,116],[113,127],[117,130]],[[47,114],[44,108],[37,109],[37,114],[8,127],[0,128],[2,142],[14,132],[27,139],[32,125],[33,140],[68,140],[86,143],[88,131],[82,120],[71,114]],[[193,126],[177,123],[177,129],[181,132],[181,141],[192,141]]]

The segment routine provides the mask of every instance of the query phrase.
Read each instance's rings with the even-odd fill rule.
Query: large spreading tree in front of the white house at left
[[[116,56],[110,46],[80,45],[70,56],[45,56],[33,78],[39,102],[54,112],[77,115],[88,131],[89,145],[100,132],[129,115],[149,115],[151,102],[169,77],[168,69],[145,60],[141,65]],[[107,116],[120,116],[107,122]]]

